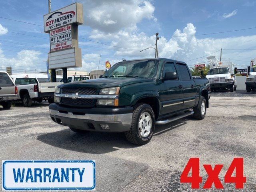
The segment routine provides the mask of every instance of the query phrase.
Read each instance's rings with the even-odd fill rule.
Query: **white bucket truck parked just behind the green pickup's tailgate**
[[[236,91],[236,72],[237,68],[231,61],[219,61],[215,56],[207,57],[210,64],[206,78],[209,79],[211,91],[230,89]]]

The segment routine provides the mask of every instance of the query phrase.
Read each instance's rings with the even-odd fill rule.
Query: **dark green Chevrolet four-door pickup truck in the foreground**
[[[164,58],[122,61],[100,79],[59,85],[50,117],[77,133],[124,132],[128,141],[150,141],[155,125],[194,114],[204,119],[208,79],[193,79],[186,63]]]

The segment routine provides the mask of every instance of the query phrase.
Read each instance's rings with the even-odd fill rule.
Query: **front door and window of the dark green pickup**
[[[162,77],[166,72],[176,72],[173,62],[166,62],[162,70]],[[183,109],[182,84],[179,79],[165,80],[160,84],[161,114],[166,115]]]

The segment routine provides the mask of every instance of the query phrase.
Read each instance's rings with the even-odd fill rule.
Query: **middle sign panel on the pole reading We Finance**
[[[72,48],[71,25],[50,31],[50,47],[51,52]]]

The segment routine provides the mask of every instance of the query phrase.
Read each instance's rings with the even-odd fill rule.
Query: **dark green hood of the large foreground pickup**
[[[96,89],[102,89],[106,87],[124,87],[125,85],[130,85],[134,83],[142,83],[154,81],[153,79],[144,79],[144,78],[100,78],[100,79],[90,79],[85,81],[76,81],[73,83],[65,83],[59,85],[58,87],[95,87]]]

